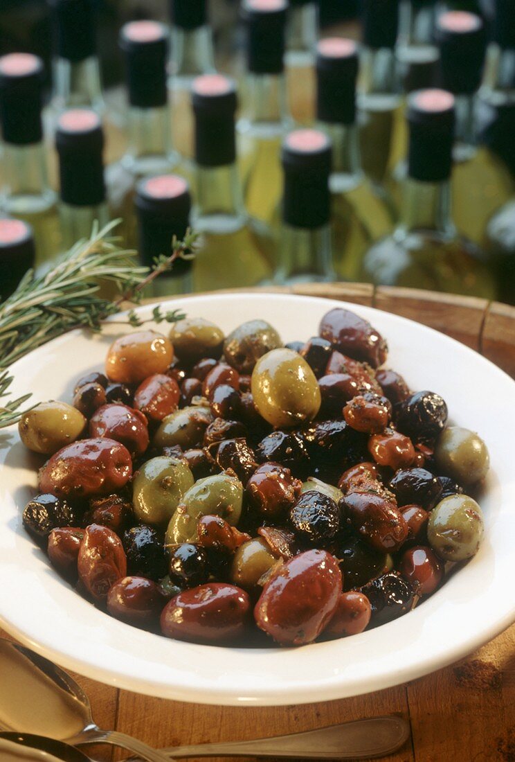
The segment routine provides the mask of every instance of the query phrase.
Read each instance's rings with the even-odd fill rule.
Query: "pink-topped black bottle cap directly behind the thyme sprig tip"
[[[174,235],[183,239],[190,223],[190,188],[178,174],[158,174],[144,178],[136,187],[139,223],[139,261],[152,267],[160,255],[171,255]],[[166,277],[189,272],[192,262],[177,259]]]

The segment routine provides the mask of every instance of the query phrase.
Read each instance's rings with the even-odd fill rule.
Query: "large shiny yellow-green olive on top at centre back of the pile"
[[[277,428],[315,418],[320,387],[308,363],[292,349],[273,349],[257,360],[251,391],[257,412]]]

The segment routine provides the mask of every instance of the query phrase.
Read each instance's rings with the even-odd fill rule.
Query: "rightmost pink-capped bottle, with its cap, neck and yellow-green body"
[[[507,168],[486,146],[478,145],[475,93],[485,57],[484,24],[467,11],[447,11],[437,19],[437,41],[440,81],[456,97],[454,219],[460,231],[480,243],[488,218],[513,192]]]

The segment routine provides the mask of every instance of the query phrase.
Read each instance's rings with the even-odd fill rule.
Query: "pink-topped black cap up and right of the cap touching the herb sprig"
[[[236,158],[236,85],[222,74],[194,80],[191,100],[195,114],[195,161],[203,167],[232,164]]]

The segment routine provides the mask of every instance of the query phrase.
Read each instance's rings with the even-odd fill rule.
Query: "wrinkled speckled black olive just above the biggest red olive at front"
[[[328,495],[310,489],[289,511],[297,539],[317,548],[328,546],[340,529],[340,509]]]

